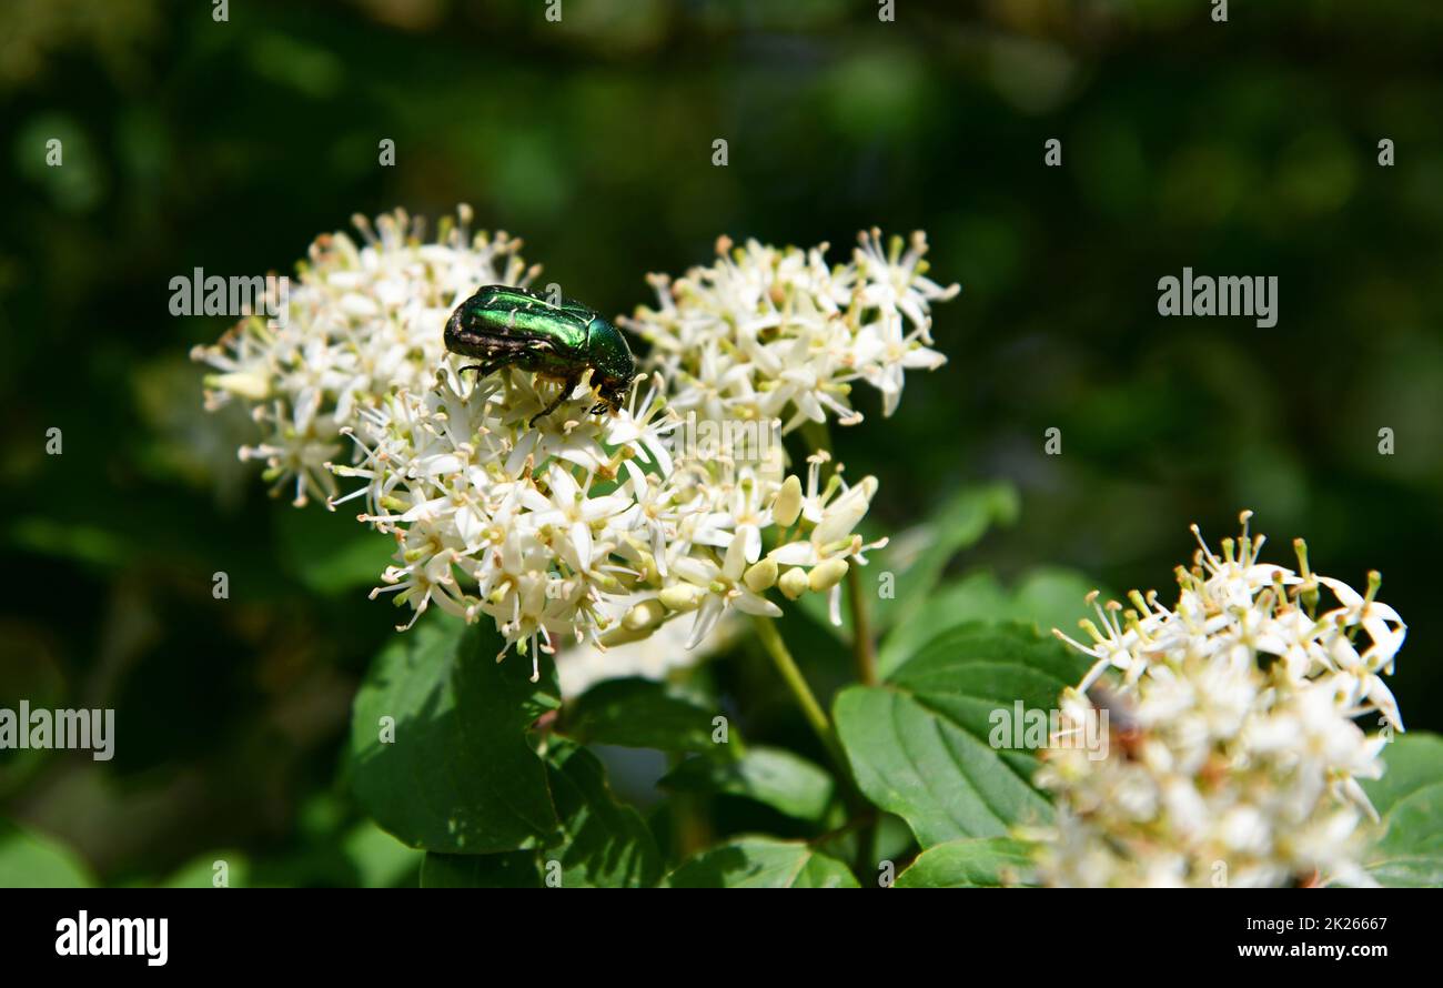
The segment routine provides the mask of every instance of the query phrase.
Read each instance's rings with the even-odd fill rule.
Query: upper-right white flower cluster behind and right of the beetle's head
[[[831,413],[843,424],[853,381],[882,392],[883,414],[902,398],[905,371],[937,369],[932,301],[952,299],[926,277],[926,237],[911,245],[859,235],[848,264],[828,268],[827,244],[808,251],[756,241],[717,241],[717,261],[672,283],[654,274],[658,307],[641,307],[629,329],[651,343],[652,365],[678,392],[672,405],[711,421],[784,420],[784,433]],[[903,254],[903,248],[906,252]]]

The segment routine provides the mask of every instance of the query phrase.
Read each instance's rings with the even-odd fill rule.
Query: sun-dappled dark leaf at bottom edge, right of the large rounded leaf
[[[561,863],[566,888],[645,888],[661,878],[661,851],[641,815],[616,802],[595,754],[561,743],[547,756],[563,841],[543,857]]]

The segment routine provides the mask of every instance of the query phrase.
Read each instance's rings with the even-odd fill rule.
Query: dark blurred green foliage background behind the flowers
[[[1273,561],[1306,535],[1326,574],[1384,573],[1410,625],[1404,717],[1443,727],[1443,7],[896,7],[0,6],[0,705],[114,707],[123,738],[108,764],[0,753],[0,818],[45,835],[32,880],[209,881],[218,857],[250,881],[414,880],[338,773],[394,635],[365,599],[385,539],[264,496],[186,359],[225,320],[167,312],[176,274],[289,271],[397,205],[472,203],[608,313],[723,232],[840,260],[859,228],[925,228],[934,274],[964,286],[937,312],[951,362],[911,375],[892,420],[867,394],[866,424],[834,430],[848,473],[882,479],[874,531],[1009,480],[1016,524],[958,574],[1059,564],[1166,596],[1188,524],[1215,542],[1253,508]],[[1277,275],[1278,325],[1160,319],[1157,278],[1183,265]]]

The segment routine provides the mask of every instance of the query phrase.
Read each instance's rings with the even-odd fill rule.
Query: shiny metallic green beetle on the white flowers
[[[561,381],[560,394],[531,417],[531,425],[556,411],[587,369],[599,398],[592,414],[620,408],[636,378],[636,358],[609,322],[577,301],[553,304],[505,284],[488,284],[456,307],[446,320],[446,349],[482,361],[462,372],[486,376],[515,366]]]

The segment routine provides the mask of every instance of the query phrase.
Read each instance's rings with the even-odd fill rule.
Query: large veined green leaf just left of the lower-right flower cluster
[[[834,701],[837,733],[857,785],[906,819],[924,848],[964,837],[1006,837],[1052,818],[1032,788],[1030,751],[994,749],[991,715],[1053,710],[1087,665],[1033,629],[951,627],[880,687],[848,687]]]

